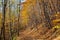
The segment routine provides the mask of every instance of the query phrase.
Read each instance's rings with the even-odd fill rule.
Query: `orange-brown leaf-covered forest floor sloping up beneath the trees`
[[[60,29],[48,29],[47,27],[30,27],[20,32],[17,40],[60,40]]]

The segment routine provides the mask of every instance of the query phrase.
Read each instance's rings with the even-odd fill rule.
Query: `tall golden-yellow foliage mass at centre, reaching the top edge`
[[[22,8],[22,11],[21,11],[21,22],[22,24],[26,25],[29,21],[29,13],[28,13],[28,10],[29,10],[29,6],[30,5],[35,5],[36,4],[36,1],[35,0],[26,0],[26,2],[23,3],[23,8]]]

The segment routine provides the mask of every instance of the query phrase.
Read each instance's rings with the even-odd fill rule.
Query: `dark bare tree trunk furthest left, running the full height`
[[[3,40],[6,40],[6,38],[5,38],[5,14],[6,14],[6,5],[7,5],[7,0],[4,0],[3,1],[3,25],[2,25]]]

